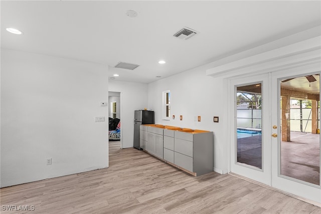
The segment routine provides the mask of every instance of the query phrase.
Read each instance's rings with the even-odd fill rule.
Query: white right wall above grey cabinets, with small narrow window
[[[155,110],[155,123],[213,131],[214,168],[226,173],[225,80],[206,76],[205,71],[202,66],[148,84],[148,108]],[[171,91],[171,115],[175,115],[175,120],[162,120],[162,92],[166,90]],[[197,116],[201,116],[201,122],[194,121]],[[219,123],[213,122],[214,116],[219,116]]]

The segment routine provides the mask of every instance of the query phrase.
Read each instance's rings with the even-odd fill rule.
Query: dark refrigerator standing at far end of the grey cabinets
[[[155,117],[154,111],[148,110],[135,110],[134,116],[134,148],[140,149],[140,125],[142,124],[154,124]]]

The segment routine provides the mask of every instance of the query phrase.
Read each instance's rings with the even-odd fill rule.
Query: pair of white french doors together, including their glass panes
[[[306,67],[230,80],[231,172],[321,203],[319,76]]]

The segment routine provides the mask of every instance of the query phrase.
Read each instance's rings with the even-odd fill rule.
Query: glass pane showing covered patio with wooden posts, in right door
[[[280,81],[280,174],[320,185],[319,75]]]

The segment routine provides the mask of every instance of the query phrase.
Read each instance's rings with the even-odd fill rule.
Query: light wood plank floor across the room
[[[321,208],[230,174],[194,177],[109,143],[109,168],[1,189],[1,213],[321,213]]]

